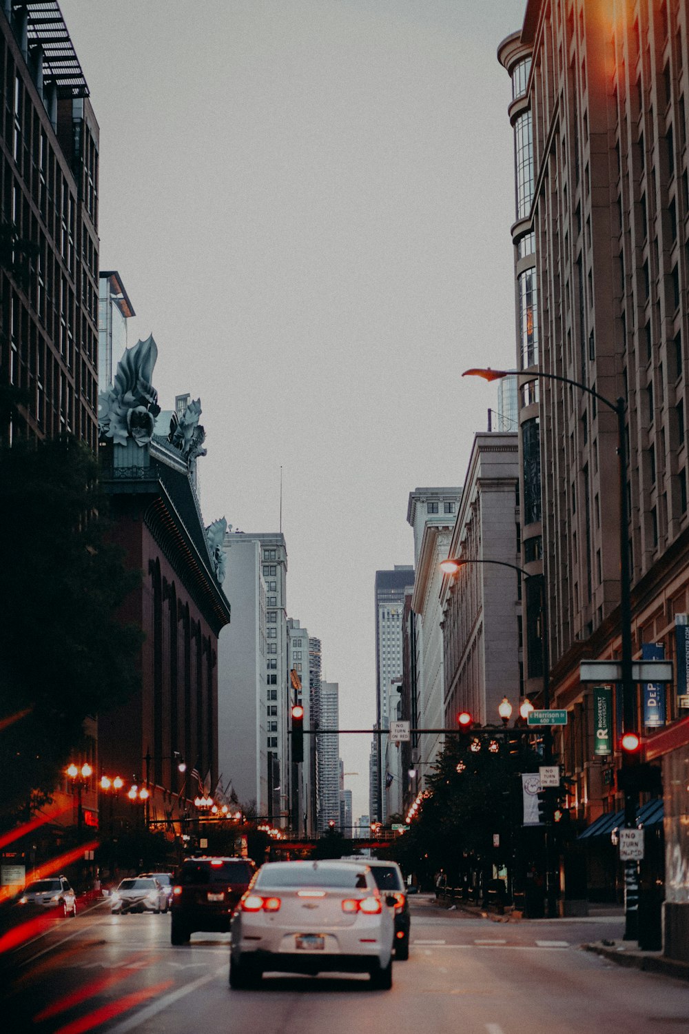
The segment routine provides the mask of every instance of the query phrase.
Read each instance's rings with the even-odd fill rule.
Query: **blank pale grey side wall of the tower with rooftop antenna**
[[[234,791],[247,814],[268,818],[268,744],[277,733],[278,688],[277,680],[268,685],[260,543],[229,531],[223,550],[232,620],[218,641],[218,769],[223,788]]]

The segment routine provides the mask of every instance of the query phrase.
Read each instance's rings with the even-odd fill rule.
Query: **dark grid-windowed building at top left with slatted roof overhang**
[[[98,123],[55,2],[0,5],[0,375],[28,402],[0,433],[95,452]]]

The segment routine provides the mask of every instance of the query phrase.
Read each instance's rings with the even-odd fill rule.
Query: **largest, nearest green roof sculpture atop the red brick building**
[[[133,438],[139,448],[153,436],[155,418],[160,413],[158,393],[151,384],[158,347],[151,334],[127,348],[118,363],[113,387],[98,396],[98,430],[115,445]]]

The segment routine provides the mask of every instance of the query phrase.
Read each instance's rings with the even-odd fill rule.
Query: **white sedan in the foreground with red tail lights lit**
[[[267,970],[364,972],[393,984],[395,899],[381,898],[366,859],[262,865],[232,916],[229,985],[255,985]],[[388,907],[389,906],[389,907]]]

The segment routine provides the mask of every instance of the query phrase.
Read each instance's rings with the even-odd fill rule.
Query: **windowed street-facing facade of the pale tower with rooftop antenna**
[[[267,818],[286,826],[289,817],[288,716],[290,678],[287,663],[287,547],[281,531],[230,531],[225,546],[239,540],[260,547],[260,576],[265,586],[265,747],[268,751]],[[275,713],[273,711],[275,710]]]

